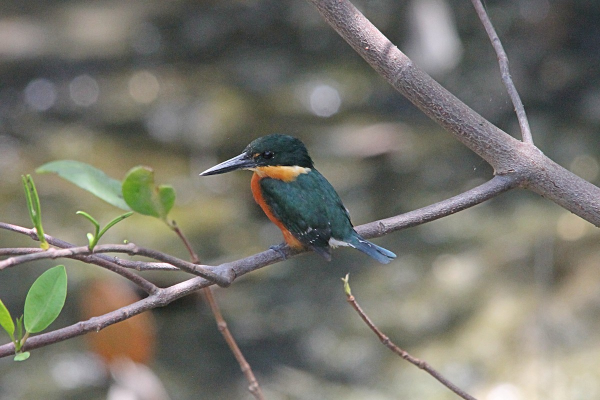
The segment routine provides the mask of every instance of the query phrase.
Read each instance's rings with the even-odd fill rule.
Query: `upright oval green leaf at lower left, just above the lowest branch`
[[[62,265],[50,268],[35,279],[25,297],[25,330],[46,329],[60,314],[67,297],[67,271]]]

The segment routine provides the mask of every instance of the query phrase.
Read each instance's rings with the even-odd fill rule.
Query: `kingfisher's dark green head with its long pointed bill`
[[[272,134],[259,137],[246,146],[244,152],[209,168],[200,175],[216,175],[239,169],[266,166],[299,166],[313,168],[304,143],[292,136]]]

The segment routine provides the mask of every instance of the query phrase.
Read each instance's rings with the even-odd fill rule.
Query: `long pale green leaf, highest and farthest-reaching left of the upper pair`
[[[89,164],[73,160],[51,161],[35,170],[37,173],[57,173],[61,178],[89,191],[115,207],[129,211],[121,193],[121,182]]]

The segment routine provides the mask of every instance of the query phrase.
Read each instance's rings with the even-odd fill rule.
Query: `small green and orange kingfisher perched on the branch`
[[[259,137],[242,154],[200,175],[239,169],[254,172],[250,184],[254,200],[290,247],[310,248],[328,261],[331,248],[337,246],[353,247],[383,264],[396,258],[356,233],[340,196],[314,168],[299,139],[280,134]]]

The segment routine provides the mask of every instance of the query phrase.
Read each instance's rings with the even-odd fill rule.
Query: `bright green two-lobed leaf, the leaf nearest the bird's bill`
[[[166,220],[175,204],[175,190],[168,185],[154,184],[154,171],[149,167],[131,169],[122,185],[123,198],[132,210],[143,215]]]

